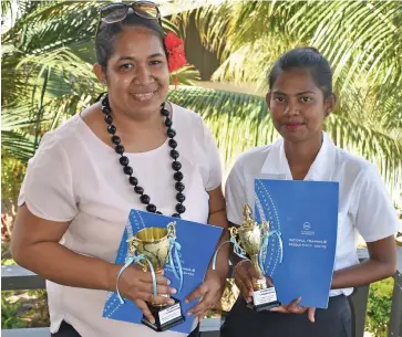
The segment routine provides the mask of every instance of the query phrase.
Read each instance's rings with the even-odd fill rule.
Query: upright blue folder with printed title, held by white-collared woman
[[[338,230],[339,183],[255,179],[255,218],[281,232],[271,235],[265,270],[272,277],[278,301],[327,308],[332,282]]]

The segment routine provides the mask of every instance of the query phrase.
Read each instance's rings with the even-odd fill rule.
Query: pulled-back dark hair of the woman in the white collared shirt
[[[312,80],[322,89],[324,97],[332,93],[331,66],[328,60],[317,49],[311,46],[292,49],[275,62],[268,76],[269,89],[272,88],[275,81],[281,72],[295,67],[309,70]]]

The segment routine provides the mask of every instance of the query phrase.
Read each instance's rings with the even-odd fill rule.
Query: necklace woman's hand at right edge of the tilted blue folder
[[[187,296],[186,303],[195,298],[203,297],[199,303],[187,312],[187,316],[194,314],[198,319],[203,319],[207,310],[213,308],[225,291],[226,278],[223,278],[217,271],[208,270],[203,284]]]

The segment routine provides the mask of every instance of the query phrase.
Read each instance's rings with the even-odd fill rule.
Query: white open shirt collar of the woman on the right
[[[332,179],[337,147],[328,137],[327,133],[322,133],[322,135],[321,148],[316,160],[310,166],[305,180],[331,181]],[[271,145],[267,159],[262,165],[261,173],[275,176],[276,179],[292,179],[289,164],[285,155],[282,137]]]

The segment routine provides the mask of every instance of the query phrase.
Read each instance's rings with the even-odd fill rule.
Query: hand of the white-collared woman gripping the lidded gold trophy
[[[260,275],[251,264],[249,260],[241,260],[235,266],[235,283],[240,289],[240,293],[247,303],[252,299],[252,278],[259,278]],[[269,286],[272,286],[272,281],[270,277],[266,276]]]

